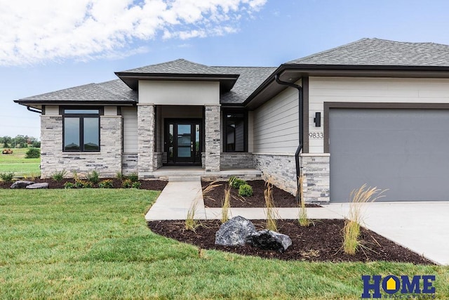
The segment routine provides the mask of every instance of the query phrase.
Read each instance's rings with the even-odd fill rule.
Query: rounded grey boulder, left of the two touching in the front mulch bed
[[[222,223],[215,233],[215,244],[222,246],[244,246],[248,235],[257,233],[254,224],[243,216],[234,216]]]

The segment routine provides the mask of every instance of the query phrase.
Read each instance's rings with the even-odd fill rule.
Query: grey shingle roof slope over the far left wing
[[[123,84],[120,79],[106,81],[101,84],[84,84],[83,86],[75,86],[69,89],[53,91],[51,93],[43,93],[41,95],[22,98],[20,102],[39,103],[40,101],[48,102],[130,102],[137,101],[137,93]]]

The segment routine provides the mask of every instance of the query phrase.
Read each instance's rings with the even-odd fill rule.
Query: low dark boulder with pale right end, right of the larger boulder
[[[253,247],[264,250],[276,250],[281,253],[286,251],[292,244],[292,240],[288,235],[276,233],[272,230],[260,230],[252,233],[247,237],[246,242]]]

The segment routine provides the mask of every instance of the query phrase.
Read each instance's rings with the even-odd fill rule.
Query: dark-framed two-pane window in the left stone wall
[[[99,109],[64,109],[62,115],[64,151],[100,151]]]

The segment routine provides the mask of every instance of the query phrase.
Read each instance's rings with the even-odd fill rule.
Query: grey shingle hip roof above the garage
[[[449,66],[449,46],[360,39],[286,64]]]

